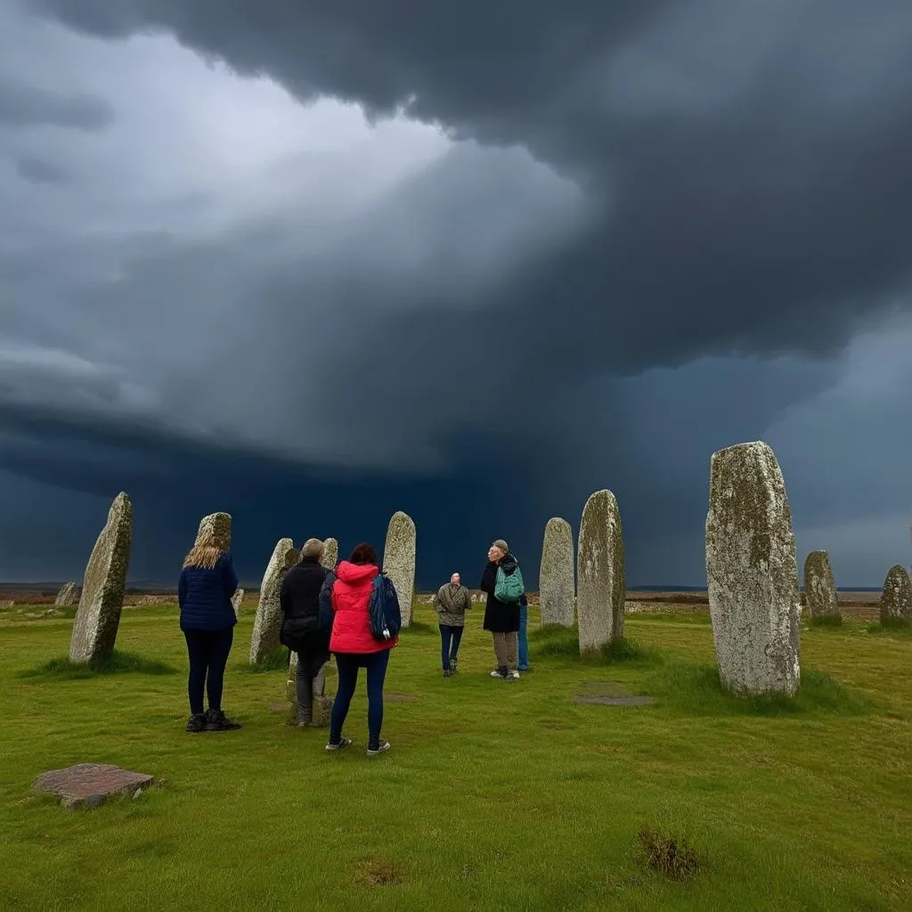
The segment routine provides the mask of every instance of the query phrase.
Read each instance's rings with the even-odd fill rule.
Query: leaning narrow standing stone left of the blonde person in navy
[[[71,662],[104,658],[114,649],[130,566],[132,532],[133,506],[121,491],[111,504],[108,522],[88,558],[69,644]]]

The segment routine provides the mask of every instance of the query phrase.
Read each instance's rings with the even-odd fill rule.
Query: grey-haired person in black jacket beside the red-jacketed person
[[[297,653],[297,724],[302,726],[313,723],[314,699],[323,696],[324,669],[329,661],[331,631],[320,627],[319,612],[320,589],[329,573],[320,564],[323,550],[323,542],[308,538],[301,548],[300,563],[285,574],[279,593],[282,608],[279,639]]]

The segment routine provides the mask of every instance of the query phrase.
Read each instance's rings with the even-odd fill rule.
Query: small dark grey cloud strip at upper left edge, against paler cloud
[[[96,132],[113,120],[114,109],[104,98],[26,86],[0,74],[0,127],[49,124]]]

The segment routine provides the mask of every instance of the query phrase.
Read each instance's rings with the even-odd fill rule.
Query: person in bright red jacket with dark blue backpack
[[[350,738],[342,737],[342,726],[351,698],[355,696],[358,668],[366,668],[368,672],[368,757],[389,751],[389,741],[380,740],[383,681],[387,675],[389,650],[396,646],[399,637],[381,642],[370,632],[368,602],[379,572],[377,552],[369,544],[359,544],[348,560],[336,568],[329,650],[336,656],[338,684],[329,720],[327,751],[338,751],[351,744]]]

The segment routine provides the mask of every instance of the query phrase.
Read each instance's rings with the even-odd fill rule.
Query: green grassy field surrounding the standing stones
[[[245,668],[249,611],[224,700],[244,729],[202,735],[183,731],[175,609],[125,610],[133,670],[82,678],[48,665],[71,620],[0,612],[0,908],[912,908],[907,633],[805,631],[782,706],[720,692],[705,615],[630,617],[613,658],[581,661],[533,613],[534,669],[504,683],[480,609],[453,679],[416,614],[389,666],[392,751],[368,760],[363,683],[355,745],[327,755],[326,730],[285,725],[285,673]],[[573,700],[625,692],[657,701]],[[94,811],[31,793],[77,762],[162,785]]]

